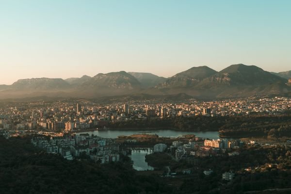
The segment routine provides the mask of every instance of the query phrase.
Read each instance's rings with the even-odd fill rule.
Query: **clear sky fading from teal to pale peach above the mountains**
[[[0,0],[0,84],[193,66],[291,70],[291,0]]]

